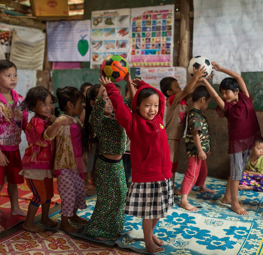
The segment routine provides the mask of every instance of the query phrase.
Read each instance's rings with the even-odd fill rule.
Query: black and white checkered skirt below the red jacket
[[[132,182],[124,213],[144,219],[165,218],[174,205],[172,178],[158,182]]]

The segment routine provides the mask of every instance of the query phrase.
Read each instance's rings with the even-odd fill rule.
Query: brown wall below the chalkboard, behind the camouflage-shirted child
[[[189,105],[190,109],[190,105]],[[257,119],[263,131],[263,111],[256,111]],[[218,118],[215,109],[207,109],[205,115],[208,119],[211,135],[212,153],[207,157],[208,175],[218,178],[228,178],[230,173],[228,151],[227,119]],[[187,156],[185,149],[185,138],[180,142],[180,160],[178,172],[185,173],[187,167]]]

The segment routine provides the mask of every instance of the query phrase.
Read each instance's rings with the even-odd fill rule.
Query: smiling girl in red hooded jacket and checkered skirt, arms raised
[[[163,251],[160,246],[164,243],[154,236],[153,230],[159,219],[166,217],[174,200],[170,149],[163,124],[164,95],[144,81],[134,79],[138,90],[130,112],[114,83],[104,77],[99,80],[112,101],[118,123],[131,141],[132,183],[124,212],[143,218],[145,250]],[[130,77],[127,80],[131,81]]]

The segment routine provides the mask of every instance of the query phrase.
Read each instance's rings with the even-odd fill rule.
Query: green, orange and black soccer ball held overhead
[[[127,61],[119,55],[111,55],[105,58],[101,65],[104,77],[110,78],[112,82],[120,82],[129,72]]]

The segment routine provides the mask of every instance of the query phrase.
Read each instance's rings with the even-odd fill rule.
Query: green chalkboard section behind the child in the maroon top
[[[263,110],[263,72],[241,72],[241,77],[247,86],[247,90],[254,99],[253,106],[256,111]],[[219,94],[219,84],[212,84],[215,91]],[[209,108],[215,108],[216,103],[211,100]]]

